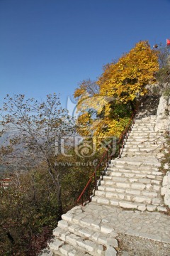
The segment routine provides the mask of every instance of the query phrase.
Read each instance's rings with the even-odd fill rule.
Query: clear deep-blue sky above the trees
[[[5,95],[61,94],[140,40],[170,38],[169,0],[0,0],[0,107]]]

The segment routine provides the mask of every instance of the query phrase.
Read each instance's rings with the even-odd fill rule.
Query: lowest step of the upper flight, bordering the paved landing
[[[103,205],[120,206],[122,208],[128,208],[128,209],[148,210],[148,211],[158,210],[158,211],[166,212],[166,208],[164,206],[150,205],[146,203],[134,203],[134,202],[123,201],[118,199],[108,199],[108,198],[102,198],[100,196],[92,197],[92,201],[103,204]]]

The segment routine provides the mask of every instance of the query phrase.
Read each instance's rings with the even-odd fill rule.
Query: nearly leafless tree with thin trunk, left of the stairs
[[[6,95],[5,100],[1,124],[8,136],[1,145],[1,162],[8,168],[27,170],[44,162],[55,184],[62,215],[61,173],[56,164],[55,142],[74,133],[74,122],[55,94],[47,95],[44,102],[26,100],[25,95]]]

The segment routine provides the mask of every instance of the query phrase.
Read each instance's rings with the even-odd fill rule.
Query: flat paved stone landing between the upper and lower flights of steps
[[[94,223],[97,223],[98,230],[108,229],[108,233],[112,230],[115,233],[135,235],[170,245],[170,216],[159,212],[125,210],[91,202],[84,208],[79,206],[69,210],[62,218],[67,220],[68,215],[74,223],[84,222],[86,227],[95,226]]]

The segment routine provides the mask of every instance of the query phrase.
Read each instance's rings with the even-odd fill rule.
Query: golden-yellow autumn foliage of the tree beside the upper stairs
[[[117,62],[104,66],[96,82],[84,80],[74,92],[78,100],[77,130],[81,136],[119,137],[146,85],[155,82],[157,50],[140,41]]]

